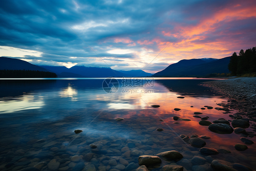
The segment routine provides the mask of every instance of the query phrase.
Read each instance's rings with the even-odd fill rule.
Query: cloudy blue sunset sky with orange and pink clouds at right
[[[0,56],[156,73],[256,46],[254,0],[1,1]]]

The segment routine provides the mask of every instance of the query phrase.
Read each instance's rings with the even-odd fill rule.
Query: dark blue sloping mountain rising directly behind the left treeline
[[[14,59],[0,57],[0,70],[34,70],[34,71],[48,71],[43,67],[30,64],[29,62]]]

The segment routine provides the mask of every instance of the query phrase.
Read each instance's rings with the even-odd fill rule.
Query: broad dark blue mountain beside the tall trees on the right
[[[201,77],[209,76],[211,73],[229,73],[229,61],[230,56],[221,59],[183,59],[155,73],[153,77]]]

